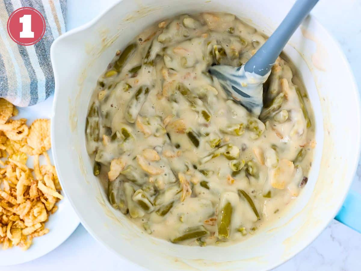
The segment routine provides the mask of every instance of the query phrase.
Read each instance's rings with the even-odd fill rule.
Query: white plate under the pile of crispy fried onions
[[[53,97],[49,97],[45,102],[27,108],[18,108],[19,115],[16,118],[28,119],[27,124],[39,118],[50,119]],[[52,158],[51,152],[49,156]],[[30,159],[29,159],[30,160]],[[64,193],[62,193],[64,195]],[[65,196],[65,195],[64,195]],[[33,243],[26,251],[22,251],[15,246],[11,249],[1,250],[0,245],[0,266],[20,264],[32,261],[49,253],[57,246],[61,245],[75,231],[79,225],[79,218],[68,198],[64,197],[57,203],[58,210],[49,217],[45,227],[50,231],[48,234],[33,239]]]

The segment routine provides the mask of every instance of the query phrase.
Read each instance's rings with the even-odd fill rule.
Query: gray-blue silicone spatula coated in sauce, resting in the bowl
[[[227,94],[253,115],[259,116],[263,107],[263,88],[271,68],[283,47],[318,0],[297,0],[296,3],[261,48],[240,67],[216,65],[209,68]]]

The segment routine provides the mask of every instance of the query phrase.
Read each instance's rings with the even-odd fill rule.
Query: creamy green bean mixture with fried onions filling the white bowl
[[[100,76],[87,150],[112,206],[145,232],[186,245],[239,241],[301,192],[316,143],[291,63],[274,64],[259,119],[207,72],[244,64],[265,40],[231,14],[181,15],[136,36]]]

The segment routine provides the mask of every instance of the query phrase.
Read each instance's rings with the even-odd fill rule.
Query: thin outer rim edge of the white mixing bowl
[[[95,18],[93,18],[91,21],[85,23],[84,25],[81,25],[79,27],[76,27],[64,34],[62,34],[59,38],[57,38],[51,48],[50,48],[50,56],[51,56],[51,63],[52,63],[52,66],[53,66],[53,73],[54,73],[54,78],[55,78],[55,92],[54,92],[54,99],[53,99],[53,107],[52,107],[52,116],[51,116],[51,134],[53,134],[55,132],[55,122],[53,121],[53,118],[55,116],[55,111],[56,111],[56,108],[57,108],[57,97],[59,95],[59,91],[58,91],[58,87],[57,87],[57,67],[55,65],[55,60],[54,60],[54,55],[55,55],[55,47],[57,46],[57,43],[59,43],[60,41],[62,41],[63,39],[66,39],[68,38],[69,36],[72,36],[72,35],[75,35],[77,33],[80,33],[84,30],[87,30],[91,27],[93,27],[97,22],[99,22],[103,17],[106,16],[106,14],[108,12],[110,12],[110,10],[112,10],[114,7],[116,7],[117,5],[119,5],[120,3],[122,2],[122,0],[119,0],[117,1],[116,3],[110,5],[108,8],[106,8],[103,12],[101,12],[100,14],[98,14]],[[352,72],[352,69],[351,69],[351,66],[347,60],[347,57],[345,56],[339,42],[330,34],[330,32],[322,25],[322,23],[320,23],[317,18],[315,16],[313,16],[313,14],[309,14],[309,20],[312,20],[314,21],[314,23],[316,25],[319,26],[319,28],[325,33],[325,35],[327,35],[335,44],[335,47],[336,47],[336,50],[338,51],[339,53],[339,56],[340,58],[343,60],[344,62],[344,65],[346,67],[346,72],[351,76],[351,79],[352,79],[352,89],[351,91],[353,91],[353,93],[356,94],[356,99],[357,99],[357,124],[358,124],[358,127],[357,127],[357,133],[358,133],[358,137],[357,137],[357,142],[355,146],[357,146],[357,154],[358,156],[357,157],[360,157],[360,152],[361,152],[361,94],[360,92],[358,91],[358,86],[357,86],[357,83],[356,83],[356,79],[355,79],[355,75],[353,74]],[[55,139],[53,138],[53,136],[51,137],[51,144],[53,147],[53,158],[54,158],[54,164],[56,166],[56,168],[58,168],[58,163],[57,163],[57,155],[56,155],[56,143],[55,143]],[[352,167],[350,167],[349,171],[352,173],[352,176],[355,176],[355,173],[356,173],[356,170],[357,170],[357,167],[358,167],[358,161],[359,161],[359,158],[355,159],[355,161],[353,161],[353,165]],[[59,176],[59,181],[61,182],[61,185],[63,186],[62,184],[62,176],[61,176],[61,172],[58,172],[58,176]],[[351,184],[352,184],[352,178],[350,178],[350,180],[348,181],[348,184],[347,184],[347,191],[349,191],[350,187],[351,187]],[[93,231],[92,227],[86,222],[86,219],[83,218],[83,215],[78,211],[76,205],[74,204],[73,200],[71,199],[71,197],[69,197],[69,195],[66,193],[66,189],[63,190],[66,197],[69,199],[71,205],[73,206],[73,209],[74,211],[76,212],[76,214],[78,215],[80,221],[81,221],[81,224],[84,226],[84,228],[87,230],[88,233],[90,233],[90,235],[95,238],[95,240],[97,240],[100,244],[102,244],[103,246],[105,246],[105,248],[107,248],[108,250],[112,251],[113,254],[115,254],[117,257],[119,258],[122,258],[123,260],[125,260],[126,262],[128,263],[131,263],[131,264],[134,264],[138,267],[141,267],[143,268],[143,266],[141,266],[140,264],[138,264],[137,262],[133,262],[131,261],[130,259],[127,259],[126,257],[124,257],[123,255],[117,253],[110,245],[108,245],[106,242],[104,242],[99,236],[98,234]],[[333,215],[331,216],[330,215],[330,218],[328,220],[324,220],[323,223],[321,223],[321,226],[318,227],[318,229],[316,231],[312,231],[312,237],[310,237],[310,242],[308,242],[307,244],[305,245],[301,245],[299,247],[299,249],[297,249],[298,251],[295,251],[291,254],[288,254],[287,257],[284,257],[284,258],[279,258],[273,262],[270,262],[269,264],[269,267],[267,270],[271,270],[277,266],[280,266],[281,264],[289,261],[291,258],[293,258],[296,254],[300,253],[302,250],[304,250],[307,246],[309,246],[324,230],[325,228],[329,225],[329,223],[334,219],[334,217],[336,216],[336,214],[339,212],[340,208],[342,207],[343,205],[343,202],[345,201],[345,198],[347,197],[347,193],[344,193],[342,197],[342,201],[340,201],[340,204],[339,206],[335,209],[333,212],[330,212],[330,213],[333,213]]]

